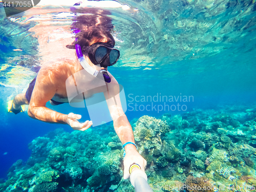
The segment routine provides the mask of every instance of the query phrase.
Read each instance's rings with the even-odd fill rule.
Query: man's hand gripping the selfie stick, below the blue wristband
[[[125,146],[123,179],[128,179],[130,177],[129,168],[134,163],[140,165],[141,170],[145,170],[146,160],[139,154],[139,152],[137,152],[137,149],[133,144],[128,144]]]

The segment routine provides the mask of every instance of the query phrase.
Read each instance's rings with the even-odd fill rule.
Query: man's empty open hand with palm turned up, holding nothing
[[[84,131],[89,129],[89,127],[92,126],[93,122],[87,120],[84,123],[79,123],[77,119],[81,119],[81,117],[82,117],[81,115],[70,113],[67,116],[66,122],[72,127],[73,130]]]

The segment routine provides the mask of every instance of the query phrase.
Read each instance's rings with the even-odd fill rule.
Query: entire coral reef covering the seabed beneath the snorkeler
[[[132,120],[150,186],[178,192],[176,187],[185,185],[182,191],[190,192],[255,185],[256,110],[241,109],[194,110]],[[31,157],[10,167],[0,191],[134,191],[130,181],[122,179],[122,144],[110,132],[113,127],[97,129],[72,133],[57,129],[35,138],[29,144]],[[192,188],[196,186],[202,189]]]

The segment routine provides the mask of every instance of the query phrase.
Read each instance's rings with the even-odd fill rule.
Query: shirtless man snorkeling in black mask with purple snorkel
[[[75,41],[66,47],[75,49],[76,56],[73,59],[62,58],[44,63],[29,84],[27,92],[14,97],[9,110],[17,114],[23,111],[22,105],[29,104],[28,115],[31,118],[50,123],[69,124],[74,130],[89,129],[93,122],[89,120],[78,122],[81,115],[61,114],[46,107],[48,101],[52,105],[69,103],[66,80],[81,70],[86,71],[85,78],[91,80],[83,84],[87,88],[87,91],[83,92],[83,99],[90,98],[96,93],[104,93],[114,129],[125,150],[123,178],[127,179],[130,176],[129,167],[136,163],[144,170],[146,160],[137,152],[131,124],[117,104],[120,99],[112,100],[113,95],[119,97],[119,87],[117,80],[108,72],[108,67],[117,62],[119,51],[114,49],[115,40],[110,33],[113,29],[111,19],[100,15],[81,15],[75,18],[71,29],[75,33]],[[105,86],[91,89],[98,75],[102,76]],[[85,79],[84,76],[81,76],[82,78]],[[115,86],[118,89],[115,89]],[[114,89],[110,89],[111,87]]]

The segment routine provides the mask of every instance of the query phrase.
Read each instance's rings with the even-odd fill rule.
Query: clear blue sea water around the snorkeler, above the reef
[[[174,20],[168,20],[172,17],[167,15],[167,7],[164,7],[164,5],[162,5],[164,3],[159,3],[161,4],[159,6],[161,8],[160,10],[166,11],[164,13],[161,13],[161,11],[157,9],[157,6],[156,10],[154,10],[154,6],[152,6],[151,4],[147,5],[146,3],[143,4],[137,1],[131,1],[128,3],[130,3],[130,6],[138,7],[141,11],[140,13],[143,13],[142,16],[137,15],[138,18],[136,18],[136,22],[141,22],[139,23],[139,25],[144,31],[139,31],[140,28],[137,26],[139,31],[138,36],[132,34],[135,28],[129,26],[129,24],[133,25],[135,23],[131,21],[132,18],[135,17],[131,15],[131,19],[127,19],[126,21],[123,21],[123,23],[118,22],[118,20],[114,18],[114,22],[117,28],[116,30],[122,31],[119,38],[124,40],[124,43],[116,43],[117,46],[120,46],[121,58],[115,67],[113,66],[109,68],[109,71],[113,74],[113,76],[116,77],[119,84],[121,84],[124,88],[127,102],[127,111],[125,114],[129,121],[138,119],[143,115],[160,118],[161,115],[164,113],[177,115],[182,114],[183,112],[192,111],[193,109],[218,110],[220,109],[220,107],[223,108],[223,106],[239,105],[243,105],[245,108],[250,109],[252,106],[255,106],[256,12],[255,10],[253,11],[253,9],[255,9],[255,5],[249,4],[245,6],[247,8],[250,7],[251,11],[248,11],[247,15],[243,17],[244,20],[243,22],[241,22],[241,26],[237,24],[237,27],[241,30],[239,29],[237,31],[229,31],[234,30],[234,28],[230,27],[228,28],[229,30],[224,30],[224,35],[217,34],[217,29],[219,26],[218,22],[222,22],[222,24],[225,22],[227,23],[228,21],[236,17],[236,15],[231,14],[236,12],[236,6],[234,6],[233,11],[227,10],[224,13],[216,15],[212,13],[210,17],[206,17],[206,15],[210,14],[211,12],[206,12],[206,14],[205,12],[200,12],[200,10],[196,10],[196,8],[194,7],[194,12],[187,13],[185,11],[185,8],[177,8],[177,2],[175,2],[172,6],[170,5],[170,9],[172,11],[176,11],[177,13],[183,13],[183,15],[177,15],[177,20],[180,19],[182,21],[182,19],[184,18],[193,17],[191,16],[193,14],[194,16],[196,15],[195,18],[197,18],[198,20],[201,19],[202,22],[210,23],[211,21],[216,21],[215,19],[219,19],[212,28],[212,33],[217,30],[216,36],[220,35],[222,38],[222,42],[215,44],[214,41],[210,40],[209,42],[205,42],[205,44],[202,45],[201,41],[195,40],[194,42],[192,42],[189,41],[191,39],[188,40],[188,37],[190,38],[188,33],[195,33],[195,36],[197,36],[197,30],[200,31],[199,26],[198,29],[191,28],[189,32],[185,32],[182,27],[177,30],[174,25],[167,25],[174,22]],[[150,8],[148,8],[146,5],[150,6]],[[178,10],[176,10],[175,7]],[[218,7],[212,8],[210,9],[210,11],[215,9],[218,10]],[[1,14],[3,14],[3,10]],[[125,16],[125,14],[123,15],[123,13],[113,13],[113,15],[115,16],[118,16],[119,14],[122,17]],[[168,16],[168,18],[165,18],[165,14]],[[146,20],[143,20],[147,18],[146,16],[151,18],[151,20],[148,20],[148,23],[146,23]],[[172,16],[174,17],[174,15]],[[163,21],[162,25],[160,25],[162,28],[158,29],[154,26],[150,26],[150,23],[154,22],[157,25],[156,19]],[[240,17],[240,19],[242,19],[242,16]],[[4,24],[4,33],[0,36],[0,67],[3,67],[6,63],[8,63],[9,65],[8,68],[1,71],[0,74],[0,114],[2,116],[0,125],[0,178],[7,178],[7,171],[13,163],[15,163],[18,159],[27,161],[27,159],[30,157],[31,151],[28,149],[28,144],[33,139],[39,136],[42,137],[48,132],[54,131],[59,127],[69,133],[71,133],[73,130],[68,125],[51,124],[32,119],[27,115],[26,112],[19,113],[18,115],[7,113],[8,97],[10,95],[13,95],[13,93],[17,94],[18,91],[20,91],[21,89],[17,89],[17,87],[15,87],[16,89],[14,89],[13,87],[11,87],[11,81],[9,81],[9,83],[7,82],[7,80],[10,80],[13,77],[8,75],[8,72],[10,72],[11,69],[18,65],[18,62],[15,62],[16,60],[20,62],[20,60],[24,59],[23,55],[25,55],[24,57],[30,55],[31,57],[36,58],[36,47],[34,45],[27,45],[26,42],[33,41],[36,44],[37,39],[30,36],[25,37],[27,34],[29,34],[28,30],[35,25],[35,23],[33,22],[30,22],[26,25],[20,25],[18,23],[11,22],[4,16],[1,16],[0,22]],[[243,23],[245,24],[243,25]],[[228,26],[228,24],[226,24],[226,26]],[[246,27],[243,28],[243,26]],[[14,34],[13,31],[10,32],[11,29],[13,29],[14,27],[18,29],[17,36],[16,34]],[[224,25],[222,27],[224,28]],[[129,30],[127,28],[130,29],[131,32],[128,32]],[[153,28],[157,31],[157,33],[155,33],[155,36],[153,33],[154,31],[152,32],[153,34],[150,33],[151,28],[152,31]],[[125,30],[127,30],[127,36],[123,35],[123,33],[125,33]],[[234,34],[231,34],[232,32],[238,33],[239,38],[236,39],[235,37],[233,37]],[[167,40],[163,40],[162,37],[166,33],[170,33],[173,36],[175,34],[175,37],[177,39],[179,37],[180,41],[167,42]],[[185,37],[183,37],[183,35]],[[230,41],[225,40],[225,38],[223,38],[223,36],[225,35],[227,36],[227,38],[228,36],[230,36],[230,38],[232,37],[233,39]],[[23,38],[28,39],[24,41],[20,40]],[[142,39],[140,43],[138,42],[139,39]],[[168,37],[168,40],[169,39],[170,38]],[[17,42],[19,41],[22,42],[22,44],[18,46]],[[189,43],[187,43],[187,41],[189,41]],[[134,42],[135,44],[135,47],[132,48],[136,50],[137,46],[138,50],[141,50],[141,53],[133,53],[133,50],[130,50],[132,42]],[[191,53],[189,53],[189,51],[185,49],[181,51],[178,48],[176,49],[172,47],[175,44],[177,44],[177,47],[179,47],[180,45],[178,44],[180,42],[184,42],[184,45],[194,44],[194,46],[192,47],[194,47],[195,49],[193,48],[191,50]],[[218,46],[226,48],[221,48],[220,50],[215,52],[214,50],[215,48],[217,49]],[[12,51],[13,49],[20,49],[21,47],[23,48],[22,52]],[[204,49],[196,51],[200,47]],[[136,60],[134,56],[136,56],[138,60]],[[16,57],[18,57],[18,59]],[[148,63],[146,57],[151,58]],[[11,61],[11,58],[15,59]],[[26,60],[26,58],[24,60]],[[133,65],[127,65],[129,61],[131,61]],[[29,66],[29,63],[30,62],[25,63],[25,67],[27,69],[32,69],[32,67]],[[29,82],[32,79],[33,75],[30,75],[29,78],[26,79],[26,82]],[[24,89],[23,86],[25,83],[20,82],[20,84],[22,84],[22,86],[20,87]],[[16,83],[16,85],[19,87],[18,83]],[[164,103],[163,101],[159,100],[160,95],[166,96],[167,98],[169,98],[169,96],[173,96],[177,99],[177,101]],[[155,99],[158,100],[143,101],[141,99],[143,99],[144,96],[150,96],[152,99],[155,96]],[[184,98],[184,96],[186,96],[187,98],[190,96],[191,100],[185,102],[181,101],[181,96],[182,98]],[[135,100],[135,97],[137,98],[137,100]],[[147,104],[150,105],[151,110],[144,110]],[[159,110],[157,108],[158,105],[163,106],[164,104],[175,105],[176,110],[161,110],[161,108]],[[178,110],[177,104],[180,104],[180,107],[184,105],[183,109],[186,110],[182,110],[182,108]],[[136,105],[137,110],[135,109]],[[156,105],[156,108],[152,108],[154,105]],[[81,114],[81,121],[86,121],[89,119],[87,109],[72,108],[71,106],[69,106],[69,104],[51,106],[49,103],[47,103],[47,106],[50,109],[56,110],[64,114],[68,114],[70,112]],[[108,124],[111,123],[112,122]],[[97,132],[97,127],[92,127],[91,129]]]

